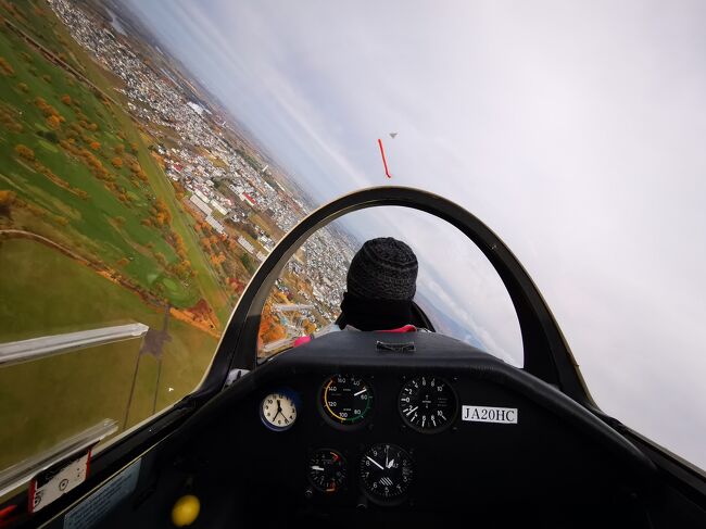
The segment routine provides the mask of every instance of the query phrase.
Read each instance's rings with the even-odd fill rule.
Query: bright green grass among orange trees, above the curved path
[[[147,289],[159,285],[161,278],[169,273],[154,255],[161,253],[167,263],[176,262],[178,257],[165,242],[161,230],[141,224],[146,216],[143,212],[150,206],[147,196],[153,194],[153,191],[148,185],[135,187],[127,167],[117,169],[109,162],[116,149],[129,149],[129,142],[116,136],[118,130],[126,128],[126,124],[112,117],[87,87],[72,80],[67,74],[12,37],[14,35],[0,33],[0,56],[4,56],[14,70],[12,77],[0,76],[0,91],[3,109],[23,125],[23,130],[17,133],[3,128],[0,131],[0,189],[12,189],[21,199],[47,212],[45,218],[34,219],[25,228],[49,238],[60,230],[64,237],[68,236],[75,241],[71,244],[73,249],[86,256],[98,257],[108,266],[115,267],[125,257],[129,261],[122,270],[125,275]],[[29,54],[31,62],[21,53]],[[37,74],[30,73],[29,67],[34,67]],[[51,83],[43,80],[42,75],[50,75]],[[17,88],[21,83],[28,87],[27,92]],[[74,102],[72,106],[62,103],[61,97],[64,95]],[[34,103],[36,98],[42,98],[65,118],[61,129],[54,133],[59,138],[64,135],[62,129],[67,127],[66,124],[77,122],[78,112],[98,126],[98,130],[89,131],[86,136],[100,143],[97,156],[104,158],[101,162],[115,178],[115,184],[129,191],[133,199],[129,203],[121,202],[103,181],[91,175],[84,163],[67,155],[56,143],[37,135],[49,130],[42,125],[46,119]],[[77,197],[33,171],[16,156],[14,148],[17,144],[31,149],[37,161],[73,188],[86,191],[88,199]],[[62,222],[58,221],[60,217],[67,219],[68,224],[58,224]],[[153,248],[148,249],[147,244]],[[164,294],[172,304],[185,307],[193,305],[201,297],[198,288],[187,287],[181,281],[178,281],[177,288]]]

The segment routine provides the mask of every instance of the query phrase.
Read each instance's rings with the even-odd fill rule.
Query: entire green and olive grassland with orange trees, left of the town
[[[124,101],[115,77],[45,2],[0,3],[0,343],[129,322],[159,330],[168,306],[188,319],[204,302],[217,317],[168,318],[159,387],[157,360],[138,356],[141,339],[0,368],[1,470],[103,418],[135,425],[192,391],[234,294],[149,140],[105,99]]]

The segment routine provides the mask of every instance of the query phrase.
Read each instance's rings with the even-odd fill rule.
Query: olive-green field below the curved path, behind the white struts
[[[18,267],[17,263],[31,265]],[[47,329],[59,333],[130,322],[162,328],[159,308],[34,241],[0,243],[0,277],[5,339],[46,333]],[[217,344],[214,337],[174,319],[168,333],[157,411],[196,388]],[[140,343],[130,340],[1,368],[0,468],[102,418],[114,418],[122,426]],[[155,383],[156,360],[144,355],[128,426],[152,415]]]

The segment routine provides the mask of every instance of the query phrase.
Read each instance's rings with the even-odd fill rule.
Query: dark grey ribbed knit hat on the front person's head
[[[412,300],[417,290],[417,257],[392,237],[365,242],[351,261],[346,288],[351,295],[373,300]]]

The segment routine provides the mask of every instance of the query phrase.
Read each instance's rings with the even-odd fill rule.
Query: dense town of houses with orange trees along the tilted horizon
[[[275,176],[245,147],[235,144],[225,119],[174,80],[179,74],[153,68],[131,49],[127,36],[94,13],[66,0],[49,4],[74,39],[123,81],[117,91],[127,98],[134,121],[155,140],[152,154],[181,191],[185,212],[235,241],[252,274],[256,267],[252,263],[262,262],[310,207],[279,181],[281,175]],[[276,341],[286,343],[287,338],[336,318],[353,252],[348,240],[323,229],[294,255],[270,301],[297,302],[300,310],[266,311],[274,320],[264,322],[264,327],[279,327],[272,335]]]

